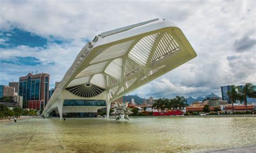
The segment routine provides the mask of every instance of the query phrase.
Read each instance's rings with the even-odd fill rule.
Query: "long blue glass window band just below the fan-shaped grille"
[[[105,100],[64,100],[63,106],[106,106]]]

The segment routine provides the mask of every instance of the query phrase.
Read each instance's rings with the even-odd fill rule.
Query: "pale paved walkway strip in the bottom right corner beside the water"
[[[205,152],[214,152],[214,153],[231,153],[231,152],[243,152],[243,153],[251,153],[256,152],[256,145],[251,145],[247,147],[238,147],[238,148],[227,148],[227,149],[220,149],[220,150],[212,150],[212,151],[205,151]]]

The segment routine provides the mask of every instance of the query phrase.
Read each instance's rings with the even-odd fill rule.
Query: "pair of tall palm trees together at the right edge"
[[[241,103],[244,102],[247,112],[247,98],[256,98],[256,91],[254,90],[254,86],[250,83],[245,84],[242,88],[232,85],[231,90],[228,91],[227,94],[232,102],[233,113],[235,101],[240,101]]]

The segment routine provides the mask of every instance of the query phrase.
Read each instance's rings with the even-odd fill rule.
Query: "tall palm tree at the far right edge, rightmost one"
[[[250,83],[245,84],[245,86],[241,89],[238,87],[238,91],[240,94],[240,101],[244,101],[245,103],[245,109],[247,112],[247,98],[256,98],[256,91],[254,91],[254,86]]]

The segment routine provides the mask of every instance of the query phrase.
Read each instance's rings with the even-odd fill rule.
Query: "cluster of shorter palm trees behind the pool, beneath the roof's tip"
[[[157,109],[158,112],[164,112],[165,109],[182,109],[186,106],[188,106],[188,104],[184,96],[176,96],[174,99],[160,98],[156,100],[152,105],[152,109]]]

